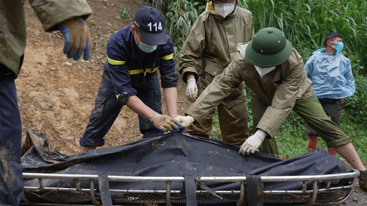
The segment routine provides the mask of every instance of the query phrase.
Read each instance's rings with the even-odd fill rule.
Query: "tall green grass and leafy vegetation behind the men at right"
[[[166,30],[172,38],[176,54],[190,34],[191,25],[205,11],[205,0],[148,0],[166,18]],[[238,6],[252,12],[255,32],[265,27],[282,30],[302,55],[304,61],[313,51],[322,48],[326,34],[343,35],[342,54],[352,62],[356,93],[343,106],[341,128],[353,140],[362,160],[367,160],[367,1],[364,0],[238,0]],[[177,55],[176,55],[177,56]],[[249,116],[251,104],[248,96]],[[215,138],[220,135],[214,118]],[[305,123],[295,113],[286,119],[276,138],[280,153],[292,157],[307,152]],[[214,137],[213,137],[214,138]],[[326,148],[320,139],[318,146]]]

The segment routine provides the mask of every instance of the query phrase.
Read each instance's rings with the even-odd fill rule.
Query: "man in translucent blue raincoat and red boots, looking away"
[[[325,113],[340,126],[341,106],[346,97],[355,92],[355,81],[350,60],[339,52],[343,49],[343,37],[330,33],[324,39],[325,48],[318,49],[305,64],[307,77],[313,82],[312,87]],[[310,152],[316,148],[317,133],[307,125],[305,131]],[[329,154],[336,156],[334,148],[328,148]]]

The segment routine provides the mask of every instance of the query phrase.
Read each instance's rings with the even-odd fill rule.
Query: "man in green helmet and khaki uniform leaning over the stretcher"
[[[252,90],[252,114],[256,132],[243,143],[239,153],[253,154],[265,138],[273,140],[293,110],[317,132],[328,147],[333,147],[354,169],[360,171],[359,185],[366,189],[366,169],[351,139],[325,114],[303,66],[302,57],[280,30],[262,29],[248,44],[238,45],[233,61],[189,108],[189,116],[178,116],[177,119],[184,127],[194,119],[203,121],[206,111],[218,105],[245,81]]]

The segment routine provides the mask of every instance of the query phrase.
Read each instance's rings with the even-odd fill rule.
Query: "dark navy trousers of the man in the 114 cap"
[[[135,88],[136,96],[155,112],[162,114],[161,93],[158,78],[150,79],[145,86]],[[95,109],[91,112],[89,123],[79,143],[81,146],[103,146],[103,139],[119,115],[122,105],[117,104],[113,84],[102,77],[96,98]],[[163,135],[149,120],[139,116],[139,129],[143,138]]]

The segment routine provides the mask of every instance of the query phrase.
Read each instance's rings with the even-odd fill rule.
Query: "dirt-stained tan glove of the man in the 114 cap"
[[[155,113],[150,122],[154,125],[154,127],[163,132],[178,131],[178,127],[182,127],[181,123],[179,123],[177,120],[166,115],[160,115],[158,113]]]

